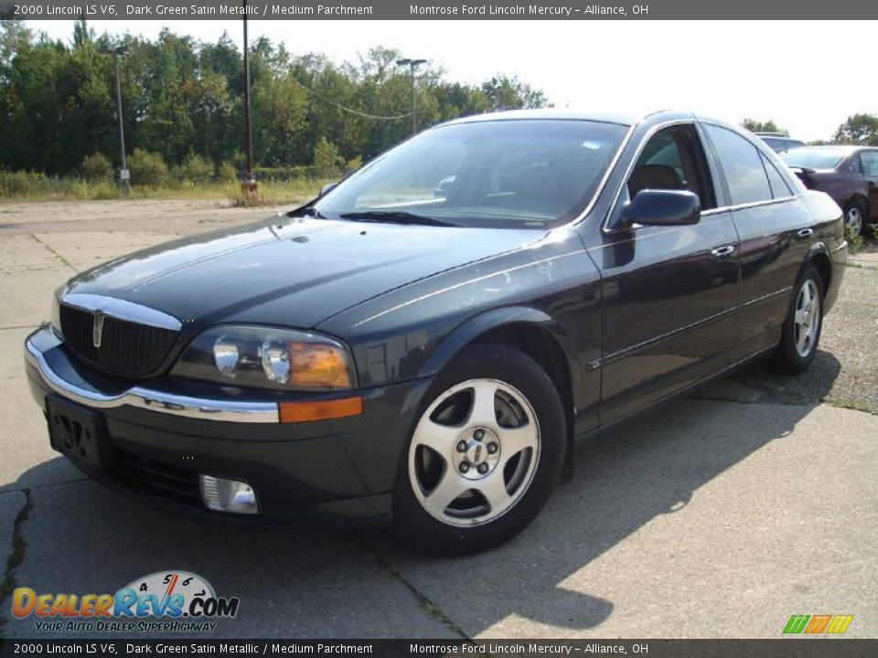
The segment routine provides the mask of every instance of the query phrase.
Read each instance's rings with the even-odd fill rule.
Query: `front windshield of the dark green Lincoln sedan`
[[[327,218],[551,228],[588,204],[625,133],[626,126],[584,121],[442,126],[373,160],[314,210]]]

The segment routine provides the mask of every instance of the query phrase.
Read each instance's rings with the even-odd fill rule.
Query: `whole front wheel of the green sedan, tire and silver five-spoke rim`
[[[540,513],[561,475],[561,399],[530,357],[474,345],[425,395],[394,490],[394,524],[415,547],[496,547]]]

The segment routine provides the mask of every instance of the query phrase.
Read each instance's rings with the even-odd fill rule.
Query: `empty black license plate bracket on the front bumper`
[[[48,396],[48,438],[52,448],[71,460],[101,470],[109,459],[106,423],[99,411]]]

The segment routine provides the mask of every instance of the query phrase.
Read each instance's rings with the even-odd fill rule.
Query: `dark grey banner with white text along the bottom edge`
[[[595,656],[873,658],[878,640],[7,640],[0,656]]]

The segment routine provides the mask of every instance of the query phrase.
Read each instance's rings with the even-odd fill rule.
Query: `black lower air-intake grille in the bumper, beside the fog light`
[[[116,450],[109,475],[112,480],[137,493],[145,493],[168,503],[204,509],[198,474],[195,472]]]

